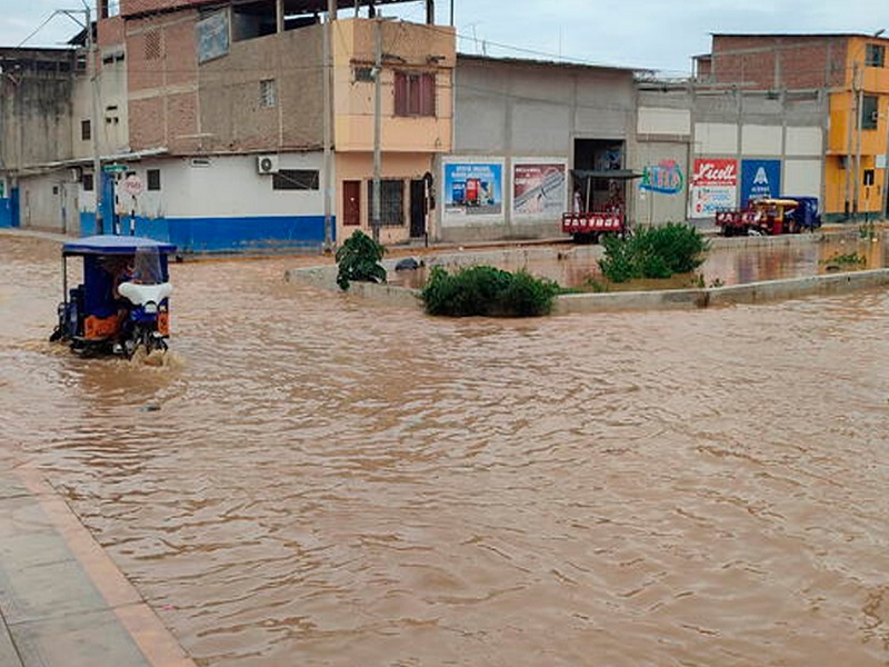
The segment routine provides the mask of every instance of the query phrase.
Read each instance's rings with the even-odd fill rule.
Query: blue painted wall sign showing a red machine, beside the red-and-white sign
[[[444,217],[503,213],[502,162],[446,162]]]

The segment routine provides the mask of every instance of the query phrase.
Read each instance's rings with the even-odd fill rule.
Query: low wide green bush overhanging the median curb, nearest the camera
[[[433,267],[421,298],[429,315],[537,317],[552,310],[559,287],[526,271],[468,267],[448,273]]]

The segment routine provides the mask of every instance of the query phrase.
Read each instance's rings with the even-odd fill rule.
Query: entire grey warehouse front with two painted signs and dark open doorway
[[[628,68],[460,54],[437,238],[559,236],[576,191],[591,207],[619,200],[632,216],[633,82]]]

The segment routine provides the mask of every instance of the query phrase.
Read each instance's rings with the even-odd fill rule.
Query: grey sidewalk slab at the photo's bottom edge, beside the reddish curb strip
[[[9,631],[23,667],[149,667],[111,610],[11,624]]]

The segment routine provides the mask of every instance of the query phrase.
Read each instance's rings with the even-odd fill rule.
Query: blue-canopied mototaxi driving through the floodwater
[[[129,359],[139,348],[167,350],[168,258],[174,251],[176,246],[143,237],[92,236],[64,243],[63,300],[50,340],[81,356]],[[81,282],[70,289],[69,261],[82,265]]]

